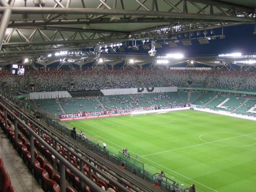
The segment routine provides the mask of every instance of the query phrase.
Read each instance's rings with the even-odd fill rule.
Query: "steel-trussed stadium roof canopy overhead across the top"
[[[133,40],[175,41],[181,33],[189,40],[191,33],[256,20],[255,0],[0,0],[0,5],[1,62],[111,43],[124,47]]]

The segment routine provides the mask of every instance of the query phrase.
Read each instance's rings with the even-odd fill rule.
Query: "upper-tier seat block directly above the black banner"
[[[79,90],[105,89],[105,79],[99,71],[70,71],[70,76]]]

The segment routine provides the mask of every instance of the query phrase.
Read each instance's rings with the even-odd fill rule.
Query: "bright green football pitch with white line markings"
[[[256,122],[199,111],[65,122],[203,192],[256,191]],[[79,132],[79,131],[77,131]],[[102,144],[101,144],[102,145]]]

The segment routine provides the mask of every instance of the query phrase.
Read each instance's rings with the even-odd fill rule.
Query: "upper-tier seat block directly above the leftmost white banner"
[[[64,71],[32,71],[32,79],[38,91],[67,90],[68,78]]]

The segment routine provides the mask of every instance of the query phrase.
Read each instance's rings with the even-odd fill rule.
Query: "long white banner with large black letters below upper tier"
[[[140,93],[165,93],[177,92],[177,87],[138,87],[138,88],[125,88],[125,89],[102,89],[100,90],[106,95],[128,95]]]

